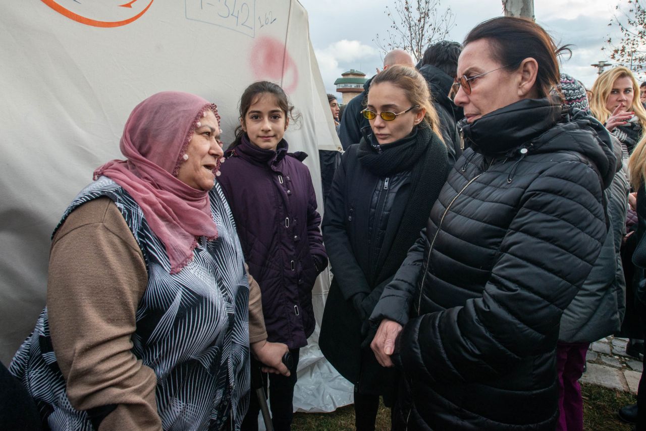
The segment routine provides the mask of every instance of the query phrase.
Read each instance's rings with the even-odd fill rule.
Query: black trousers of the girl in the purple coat
[[[294,364],[289,369],[289,377],[285,377],[282,374],[269,374],[267,376],[267,373],[262,373],[265,394],[267,394],[267,377],[269,377],[269,403],[271,404],[271,423],[274,426],[274,431],[290,431],[291,420],[294,415],[294,386],[297,381],[296,369],[298,367],[298,353],[300,349],[291,349],[289,352],[294,359]],[[253,373],[258,372],[259,366],[260,363],[251,358],[252,381]],[[256,396],[253,384],[251,386],[249,411],[242,421],[242,431],[258,431],[260,403],[258,403],[258,397]]]

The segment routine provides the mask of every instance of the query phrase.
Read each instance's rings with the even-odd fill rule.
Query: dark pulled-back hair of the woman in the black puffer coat
[[[464,47],[471,42],[487,39],[492,46],[494,59],[505,68],[514,70],[526,58],[538,63],[536,89],[540,98],[550,95],[559,85],[560,72],[556,56],[570,52],[565,47],[556,47],[554,39],[543,27],[531,19],[496,17],[475,26],[464,38]],[[507,66],[508,65],[508,66]]]

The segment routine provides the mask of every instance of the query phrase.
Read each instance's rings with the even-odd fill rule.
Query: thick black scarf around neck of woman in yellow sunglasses
[[[367,129],[367,130],[366,130]],[[364,127],[364,138],[359,143],[359,162],[371,173],[383,177],[402,171],[411,171],[411,191],[404,208],[397,235],[384,265],[375,279],[377,288],[383,289],[406,258],[408,249],[426,226],[431,208],[439,196],[448,175],[446,145],[430,127],[416,127],[412,134],[397,142],[380,147],[368,135],[370,127]],[[385,250],[382,250],[382,253]]]

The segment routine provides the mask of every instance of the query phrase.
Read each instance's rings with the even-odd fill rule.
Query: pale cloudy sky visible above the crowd
[[[328,92],[334,81],[350,68],[372,76],[382,65],[382,54],[373,41],[383,34],[390,21],[384,10],[392,0],[299,0],[309,14],[309,34],[318,66]],[[608,26],[615,6],[627,0],[535,0],[536,21],[557,43],[572,44],[572,58],[563,59],[562,70],[590,87],[596,78],[592,63],[609,61],[602,51],[607,36],[617,36],[616,26]],[[466,33],[485,19],[501,16],[501,0],[441,0],[441,8],[455,14],[455,27],[447,39],[462,41]],[[640,76],[638,78],[644,78]],[[338,94],[340,96],[340,94]]]

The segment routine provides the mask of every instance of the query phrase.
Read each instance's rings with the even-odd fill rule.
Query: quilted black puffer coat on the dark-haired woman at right
[[[600,123],[567,120],[522,100],[464,127],[472,147],[371,315],[404,324],[408,430],[554,430],[559,320],[605,238],[616,166]]]

